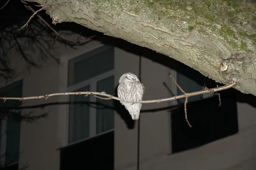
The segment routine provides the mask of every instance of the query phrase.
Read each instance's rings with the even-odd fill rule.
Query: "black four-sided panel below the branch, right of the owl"
[[[189,102],[187,116],[184,105],[172,111],[172,152],[192,149],[206,143],[225,138],[238,132],[236,90],[221,92],[222,105],[218,106],[218,96]]]

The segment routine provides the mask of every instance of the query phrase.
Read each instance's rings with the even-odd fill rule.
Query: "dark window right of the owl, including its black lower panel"
[[[217,87],[214,80],[182,63],[177,68],[176,80],[185,92],[203,90],[204,83],[207,88]],[[174,88],[174,94],[175,92],[177,95],[182,94],[178,88]],[[189,128],[185,120],[184,101],[184,98],[179,99],[177,102],[180,107],[171,111],[172,153],[199,147],[237,133],[236,90],[221,91],[221,106],[218,106],[218,93],[189,97],[187,116],[192,128]]]

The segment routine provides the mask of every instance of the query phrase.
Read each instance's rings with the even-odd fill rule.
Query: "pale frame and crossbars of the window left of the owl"
[[[97,48],[101,48],[101,47],[104,47],[106,46],[105,44],[99,44],[98,46],[94,46],[93,48],[90,48],[86,51],[84,51],[83,53],[80,53],[78,55],[74,55],[70,58],[67,59],[67,71],[66,71],[66,75],[67,75],[67,92],[72,92],[72,91],[75,91],[75,90],[78,90],[82,87],[85,87],[85,86],[90,86],[90,91],[91,92],[96,92],[97,91],[97,82],[103,80],[103,79],[106,79],[106,78],[110,78],[111,76],[114,76],[114,69],[112,70],[109,70],[107,72],[104,72],[102,74],[99,74],[97,76],[94,76],[94,77],[91,77],[89,79],[86,79],[86,80],[83,80],[82,82],[79,82],[79,83],[76,83],[76,84],[73,84],[71,86],[68,86],[68,75],[69,75],[69,70],[68,70],[68,62],[69,60],[71,59],[74,59],[76,57],[79,57],[80,55],[83,55],[83,54],[87,54],[93,50],[96,50]],[[112,46],[113,50],[115,50],[115,47]],[[113,57],[115,58],[115,53],[113,53]],[[86,58],[86,57],[85,57]],[[114,87],[113,87],[114,88]],[[90,102],[97,102],[97,98],[93,97],[93,96],[87,96],[89,98],[89,101]],[[70,98],[69,96],[67,96],[67,101],[69,102],[70,101]],[[113,129],[110,129],[110,130],[107,130],[107,131],[103,131],[101,133],[98,133],[97,134],[97,110],[96,108],[93,108],[93,107],[89,107],[89,117],[90,117],[90,120],[89,120],[89,137],[86,137],[86,138],[83,138],[83,139],[80,139],[78,141],[75,141],[75,142],[68,142],[68,139],[69,139],[69,104],[67,105],[67,108],[66,108],[66,139],[65,139],[65,143],[66,145],[65,146],[70,146],[70,145],[74,145],[76,143],[79,143],[79,142],[82,142],[82,141],[86,141],[86,140],[89,140],[91,138],[94,138],[94,137],[97,137],[99,135],[103,135],[105,133],[109,133],[109,132],[112,132],[114,131],[114,128]]]

